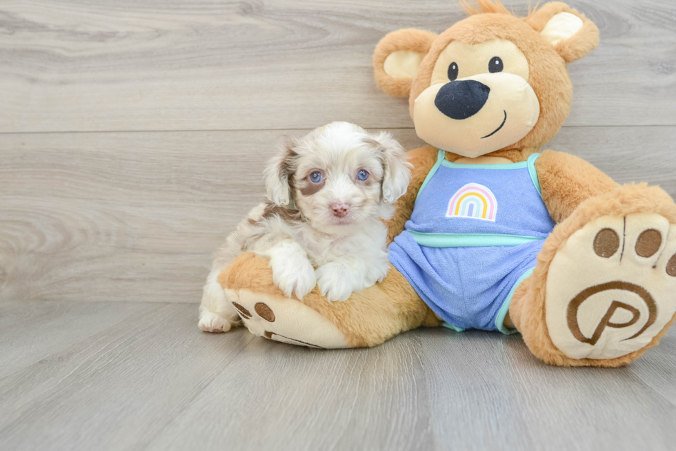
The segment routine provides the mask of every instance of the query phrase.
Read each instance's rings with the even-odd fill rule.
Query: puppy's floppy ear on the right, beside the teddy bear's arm
[[[404,148],[390,133],[380,132],[369,137],[372,140],[371,144],[381,151],[383,201],[392,204],[408,189],[411,164],[406,161]]]

